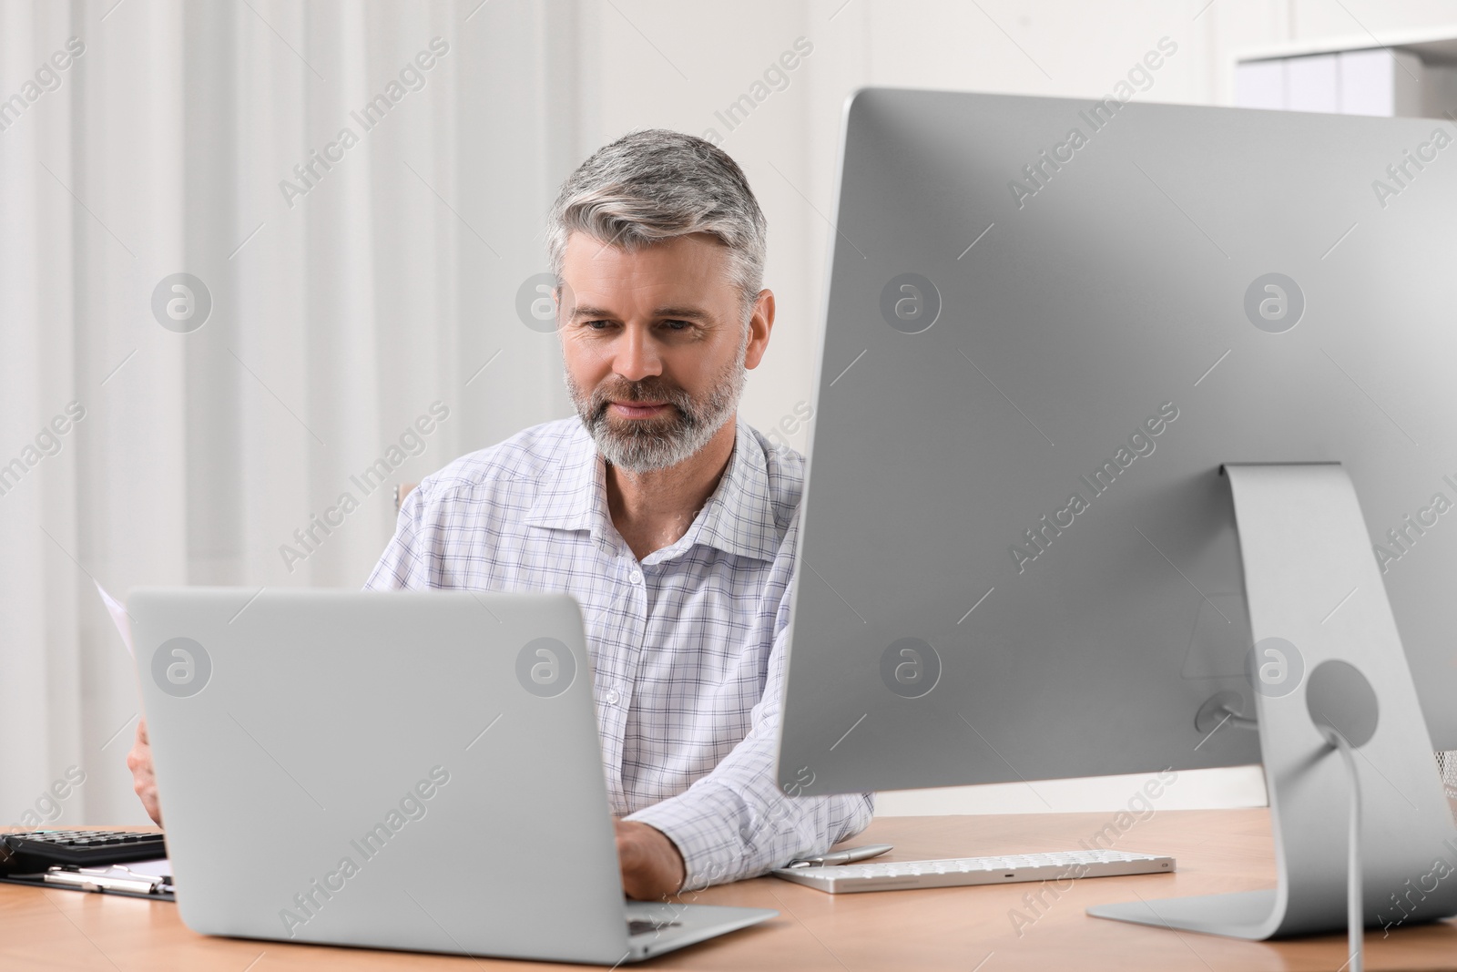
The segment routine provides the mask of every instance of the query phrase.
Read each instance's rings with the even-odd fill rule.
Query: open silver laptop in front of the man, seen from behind
[[[182,921],[616,965],[778,915],[625,901],[568,595],[137,589]]]

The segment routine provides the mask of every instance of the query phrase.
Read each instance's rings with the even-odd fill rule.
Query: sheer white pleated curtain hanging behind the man
[[[0,822],[144,822],[93,581],[357,587],[396,482],[570,414],[571,7],[0,0]]]

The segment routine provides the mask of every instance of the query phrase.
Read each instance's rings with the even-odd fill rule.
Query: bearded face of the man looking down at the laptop
[[[573,233],[561,275],[567,391],[608,462],[648,472],[702,449],[763,357],[774,296],[745,325],[728,251],[704,233],[637,252]]]

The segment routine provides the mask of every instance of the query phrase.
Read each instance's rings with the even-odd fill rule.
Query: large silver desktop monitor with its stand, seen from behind
[[[1173,924],[1311,931],[1345,921],[1323,707],[1365,743],[1364,854],[1422,866],[1400,877],[1453,857],[1431,750],[1457,748],[1454,134],[858,92],[781,784],[1263,762],[1279,902]],[[1301,890],[1321,854],[1333,915]]]

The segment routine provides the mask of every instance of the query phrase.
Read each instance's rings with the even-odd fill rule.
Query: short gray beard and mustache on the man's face
[[[653,379],[628,382],[625,386],[618,383],[613,392],[621,389],[625,392],[621,395],[602,395],[600,389],[589,395],[577,388],[571,380],[571,372],[565,367],[562,376],[571,404],[577,408],[577,415],[602,458],[624,472],[656,472],[696,455],[733,417],[749,377],[749,370],[743,366],[747,350],[749,328],[745,328],[733,363],[718,375],[702,401],[694,399],[680,388],[667,388]],[[664,401],[670,408],[666,418],[613,423],[608,414],[610,399]]]

